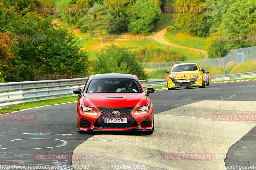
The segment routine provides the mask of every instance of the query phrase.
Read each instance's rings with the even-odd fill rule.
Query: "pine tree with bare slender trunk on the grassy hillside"
[[[110,28],[113,17],[107,4],[95,3],[81,21],[83,22],[81,28],[87,27],[88,33],[100,33],[100,43],[102,44],[102,31]]]

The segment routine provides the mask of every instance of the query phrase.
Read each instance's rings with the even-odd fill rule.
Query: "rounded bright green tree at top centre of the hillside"
[[[148,33],[156,27],[161,10],[150,1],[136,1],[130,11],[128,30],[132,33]]]

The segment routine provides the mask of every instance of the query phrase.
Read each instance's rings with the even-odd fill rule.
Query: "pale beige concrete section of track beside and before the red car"
[[[229,148],[256,121],[212,120],[213,114],[255,115],[256,101],[203,100],[154,115],[152,135],[101,133],[73,153],[92,169],[226,169]]]

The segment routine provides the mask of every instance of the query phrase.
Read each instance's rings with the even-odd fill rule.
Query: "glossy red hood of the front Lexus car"
[[[85,93],[88,107],[140,107],[146,105],[145,93]]]

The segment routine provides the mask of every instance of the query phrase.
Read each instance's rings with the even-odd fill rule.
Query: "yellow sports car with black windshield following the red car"
[[[172,67],[167,78],[168,90],[174,90],[177,87],[194,87],[204,88],[204,69],[199,69],[196,63],[180,63]]]

